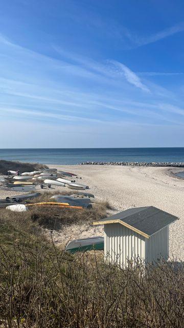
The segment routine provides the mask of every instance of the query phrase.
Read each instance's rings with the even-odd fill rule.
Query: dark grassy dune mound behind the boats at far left
[[[0,174],[7,174],[8,170],[31,172],[45,169],[48,169],[48,166],[39,163],[24,163],[12,160],[0,160]]]

